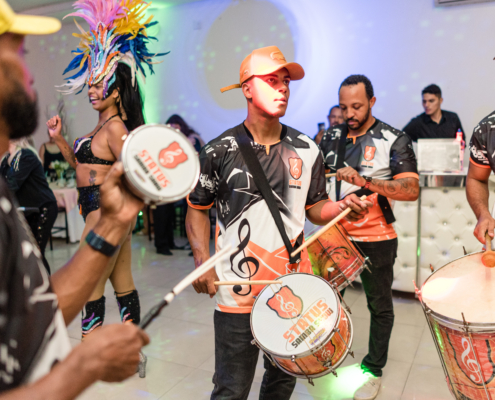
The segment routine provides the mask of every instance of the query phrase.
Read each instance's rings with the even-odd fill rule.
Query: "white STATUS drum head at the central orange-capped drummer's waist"
[[[257,342],[280,357],[298,356],[321,345],[340,313],[337,295],[323,278],[293,273],[269,285],[256,299],[251,330]]]

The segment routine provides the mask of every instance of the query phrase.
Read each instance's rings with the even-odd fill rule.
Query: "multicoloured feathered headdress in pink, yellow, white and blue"
[[[168,53],[151,54],[147,45],[150,40],[157,40],[147,34],[147,28],[158,22],[151,22],[150,16],[143,22],[145,10],[151,3],[143,0],[78,0],[74,3],[76,12],[65,18],[81,17],[89,24],[89,31],[74,20],[81,33],[74,33],[81,42],[77,50],[72,51],[76,57],[65,69],[64,75],[80,68],[75,75],[66,78],[60,86],[63,94],[80,93],[86,84],[92,86],[103,82],[107,89],[115,81],[114,72],[119,62],[131,68],[134,86],[137,72],[146,77],[144,65],[153,74],[153,57]]]

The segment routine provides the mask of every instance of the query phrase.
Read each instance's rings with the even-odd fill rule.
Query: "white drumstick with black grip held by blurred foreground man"
[[[231,254],[234,254],[238,251],[238,248],[232,249],[232,245],[227,245],[225,248],[220,250],[214,256],[210,257],[205,263],[203,263],[199,268],[196,268],[193,272],[187,275],[184,279],[182,279],[171,292],[167,293],[167,295],[163,298],[163,300],[154,306],[148,313],[144,316],[141,324],[139,325],[141,329],[146,329],[146,327],[153,321],[155,317],[161,313],[162,309],[170,304],[172,300],[177,296],[180,292],[182,292],[187,286],[193,283],[196,279],[198,279],[205,272],[212,269],[217,261],[221,260],[224,257],[228,257]]]

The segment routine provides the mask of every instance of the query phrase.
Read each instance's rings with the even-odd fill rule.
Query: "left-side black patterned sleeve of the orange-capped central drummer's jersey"
[[[213,149],[206,145],[199,154],[200,175],[195,189],[187,196],[187,203],[197,210],[208,210],[216,201],[218,189],[218,159],[214,159]]]

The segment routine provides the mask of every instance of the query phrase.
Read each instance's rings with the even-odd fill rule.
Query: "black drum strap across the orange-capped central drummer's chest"
[[[239,145],[239,150],[241,152],[242,158],[244,159],[244,162],[246,163],[249,172],[253,176],[254,183],[256,184],[259,191],[261,192],[261,195],[265,199],[266,204],[268,205],[268,209],[270,210],[272,217],[275,220],[275,225],[277,225],[278,231],[280,232],[280,236],[282,236],[282,240],[284,241],[285,247],[289,252],[289,263],[296,264],[301,260],[299,254],[297,254],[295,257],[292,257],[291,254],[302,243],[304,233],[301,232],[296,242],[294,243],[294,246],[292,246],[290,239],[287,236],[287,232],[285,231],[284,222],[282,221],[282,217],[280,215],[280,210],[278,208],[277,201],[275,200],[275,196],[273,195],[273,190],[270,184],[268,183],[268,179],[266,178],[263,168],[261,167],[260,160],[258,160],[258,157],[256,156],[256,153],[253,150],[253,146],[251,145],[251,140],[247,135],[244,124],[242,124],[242,127],[244,128],[243,129],[244,131],[242,131],[241,126],[239,126],[237,129],[234,129],[235,139],[237,141],[237,144]]]

